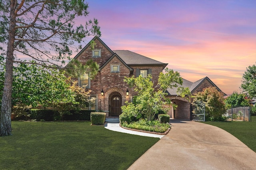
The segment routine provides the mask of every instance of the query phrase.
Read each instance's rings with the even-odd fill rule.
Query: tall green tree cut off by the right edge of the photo
[[[256,65],[246,68],[241,88],[248,93],[251,99],[256,98]]]

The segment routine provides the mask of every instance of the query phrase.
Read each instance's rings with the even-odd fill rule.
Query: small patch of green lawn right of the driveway
[[[256,152],[256,122],[204,122],[236,136],[249,148]]]

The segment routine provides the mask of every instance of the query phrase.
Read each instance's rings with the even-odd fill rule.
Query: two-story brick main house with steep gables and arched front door
[[[143,55],[128,50],[111,50],[97,36],[92,39],[94,48],[88,43],[75,57],[78,61],[85,63],[93,59],[100,66],[99,72],[94,79],[89,74],[78,78],[78,85],[86,85],[90,89],[91,98],[95,99],[88,109],[104,111],[107,116],[116,117],[121,114],[121,106],[126,101],[131,102],[135,95],[134,89],[129,88],[124,82],[124,77],[132,75],[146,77],[152,75],[155,85],[159,73],[166,67],[161,63]]]

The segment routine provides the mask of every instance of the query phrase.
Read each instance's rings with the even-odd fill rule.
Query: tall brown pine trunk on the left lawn
[[[12,77],[13,77],[13,54],[15,40],[15,1],[10,2],[10,27],[6,53],[6,72],[4,77],[4,91],[0,117],[0,136],[11,135],[11,113],[12,113]]]

